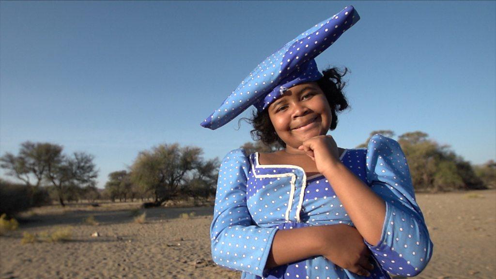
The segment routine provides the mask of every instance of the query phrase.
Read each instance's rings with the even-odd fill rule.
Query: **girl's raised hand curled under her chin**
[[[298,149],[305,151],[315,161],[320,173],[339,162],[338,146],[332,136],[323,135],[307,139]]]

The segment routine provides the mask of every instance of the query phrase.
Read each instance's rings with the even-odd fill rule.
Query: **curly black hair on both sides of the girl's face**
[[[318,86],[320,86],[320,89],[324,92],[325,97],[329,102],[329,106],[331,107],[331,131],[336,129],[338,124],[338,117],[336,113],[348,108],[348,101],[343,93],[343,88],[345,87],[346,82],[341,79],[348,71],[349,70],[346,67],[344,70],[339,70],[335,67],[329,68],[327,70],[323,70],[322,74],[324,76],[316,81]],[[274,126],[270,121],[268,110],[265,109],[262,112],[257,112],[254,110],[252,113],[253,116],[251,119],[244,119],[253,126],[253,130],[250,131],[251,138],[253,140],[261,140],[266,145],[271,145],[277,142],[279,145],[286,147],[286,143],[280,139],[279,136],[277,136]]]

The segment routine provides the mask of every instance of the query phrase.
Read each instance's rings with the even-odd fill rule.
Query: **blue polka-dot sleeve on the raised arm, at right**
[[[386,214],[380,241],[366,244],[387,272],[418,275],[431,259],[433,243],[415,201],[405,155],[394,139],[375,135],[369,141],[367,180],[385,201]]]

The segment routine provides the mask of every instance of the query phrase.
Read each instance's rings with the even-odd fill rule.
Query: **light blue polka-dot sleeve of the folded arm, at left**
[[[249,160],[243,149],[229,152],[219,168],[212,258],[220,266],[262,277],[276,228],[254,225],[247,207]]]

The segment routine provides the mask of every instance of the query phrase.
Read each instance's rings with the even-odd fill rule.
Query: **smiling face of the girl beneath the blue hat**
[[[329,102],[316,82],[289,88],[270,104],[268,113],[286,148],[298,148],[307,139],[327,134],[332,120]]]

